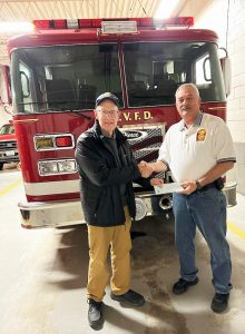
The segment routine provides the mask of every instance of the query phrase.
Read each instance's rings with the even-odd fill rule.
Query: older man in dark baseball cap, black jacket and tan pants
[[[118,107],[115,95],[100,95],[96,99],[95,125],[80,135],[76,149],[81,206],[88,224],[88,321],[95,330],[104,323],[109,249],[110,297],[130,306],[145,303],[140,294],[130,289],[130,227],[136,216],[133,180],[145,186],[150,183],[141,178],[143,167],[137,165],[127,138],[117,128]]]

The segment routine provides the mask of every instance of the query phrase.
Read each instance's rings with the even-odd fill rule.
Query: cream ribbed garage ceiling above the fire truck
[[[153,17],[160,1],[161,0],[0,0],[0,22],[62,18]],[[178,0],[174,16],[195,17],[209,1],[212,0]],[[8,62],[6,42],[11,36],[13,36],[13,33],[0,33],[0,63]]]

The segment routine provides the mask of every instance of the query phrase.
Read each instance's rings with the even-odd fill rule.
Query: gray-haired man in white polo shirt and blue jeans
[[[183,187],[173,195],[175,242],[180,262],[180,278],[173,286],[174,294],[183,294],[198,283],[194,243],[197,226],[210,250],[215,287],[210,307],[220,313],[227,308],[232,289],[222,176],[233,168],[236,159],[224,120],[200,112],[199,106],[195,85],[185,84],[177,89],[176,107],[183,119],[167,131],[158,160],[145,165],[155,173],[170,169]]]

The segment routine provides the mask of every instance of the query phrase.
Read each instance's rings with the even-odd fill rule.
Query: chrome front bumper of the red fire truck
[[[223,193],[226,196],[227,206],[236,205],[236,183],[227,183]],[[21,226],[26,228],[86,224],[80,200],[22,202],[18,206]],[[136,220],[141,220],[146,216],[167,214],[171,207],[171,194],[136,194]]]

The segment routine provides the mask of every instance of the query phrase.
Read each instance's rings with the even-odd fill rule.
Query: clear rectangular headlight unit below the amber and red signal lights
[[[38,170],[40,176],[71,174],[77,171],[77,164],[75,159],[39,161]]]

